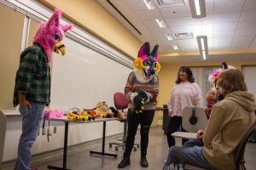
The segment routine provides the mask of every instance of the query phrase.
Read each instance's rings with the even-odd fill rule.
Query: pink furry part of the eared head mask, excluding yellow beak
[[[44,47],[46,54],[48,54],[49,62],[52,62],[52,55],[57,42],[61,42],[64,38],[64,33],[72,29],[72,25],[67,24],[61,26],[61,9],[55,9],[55,13],[52,14],[48,22],[41,23],[38,27],[38,31],[34,36],[33,42],[38,42]],[[58,37],[58,38],[55,38]]]

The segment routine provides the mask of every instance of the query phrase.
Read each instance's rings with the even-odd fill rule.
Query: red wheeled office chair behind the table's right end
[[[113,94],[113,103],[117,110],[124,111],[125,109],[128,108],[129,100],[126,98],[124,93],[117,92]],[[117,140],[122,141],[122,143],[117,143],[117,142],[109,143],[109,147],[112,147],[113,144],[116,145],[115,146],[116,151],[119,150],[119,147],[122,147],[123,149],[125,148],[125,140],[126,140],[126,134],[127,134],[127,119],[123,118],[120,120],[120,122],[124,122],[124,135],[122,139],[117,139]],[[139,147],[139,144],[134,144],[134,148],[133,148],[134,151],[136,151],[138,147]]]

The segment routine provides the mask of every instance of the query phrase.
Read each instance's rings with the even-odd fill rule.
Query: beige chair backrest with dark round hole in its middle
[[[194,116],[193,116],[194,115]],[[183,109],[183,129],[189,133],[196,133],[199,129],[207,127],[207,114],[203,108],[185,107]]]

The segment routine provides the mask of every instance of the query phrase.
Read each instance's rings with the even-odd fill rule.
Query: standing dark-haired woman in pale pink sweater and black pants
[[[175,145],[175,139],[171,134],[176,132],[182,125],[184,107],[192,107],[194,105],[203,108],[201,89],[195,83],[195,78],[190,68],[181,66],[177,72],[177,81],[172,88],[172,94],[167,104],[169,116],[171,116],[166,133],[169,147]],[[182,131],[184,131],[183,127]]]

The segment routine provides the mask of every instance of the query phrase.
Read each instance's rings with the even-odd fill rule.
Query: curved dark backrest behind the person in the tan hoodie
[[[247,140],[250,138],[251,134],[253,133],[253,129],[256,126],[256,122],[254,122],[253,127],[251,127],[247,133],[242,137],[240,144],[236,148],[236,170],[240,170],[240,167],[243,167],[242,169],[245,169],[244,167],[244,151],[247,145]]]

